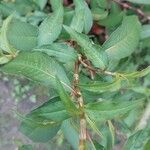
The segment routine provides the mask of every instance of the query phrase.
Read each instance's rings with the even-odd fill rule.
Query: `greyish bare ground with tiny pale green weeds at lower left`
[[[15,84],[16,81],[17,85]],[[27,113],[32,108],[42,104],[44,102],[43,99],[47,99],[47,96],[42,96],[41,100],[36,101],[33,93],[38,90],[38,87],[36,87],[35,91],[34,87],[28,87],[27,91],[21,93],[20,89],[23,89],[21,86],[19,80],[8,80],[2,75],[0,77],[0,149],[2,150],[16,150],[21,143],[31,143],[31,141],[18,131],[20,121],[13,110],[17,109],[19,112]],[[18,96],[18,94],[20,95]],[[24,97],[23,100],[22,97]],[[38,149],[45,149],[38,144],[36,144],[36,147]]]

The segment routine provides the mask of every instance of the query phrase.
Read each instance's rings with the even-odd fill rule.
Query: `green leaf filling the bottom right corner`
[[[132,134],[126,141],[123,150],[143,150],[144,145],[148,142],[150,137],[149,127],[138,130]]]

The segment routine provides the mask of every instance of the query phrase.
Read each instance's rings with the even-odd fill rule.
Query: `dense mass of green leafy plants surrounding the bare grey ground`
[[[123,135],[121,149],[148,149],[150,2],[127,1],[0,2],[0,71],[51,93],[27,115],[16,112],[33,142],[112,150]]]

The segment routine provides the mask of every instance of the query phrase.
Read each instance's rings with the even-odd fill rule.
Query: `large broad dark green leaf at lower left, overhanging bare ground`
[[[60,129],[62,121],[70,118],[58,97],[21,117],[20,131],[34,142],[47,142]]]

